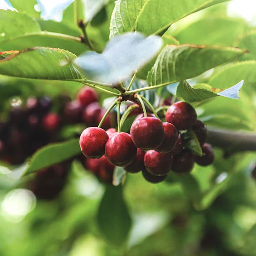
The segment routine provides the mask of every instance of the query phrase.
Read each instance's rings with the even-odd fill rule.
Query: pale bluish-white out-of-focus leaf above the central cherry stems
[[[130,32],[114,37],[102,54],[85,52],[74,63],[89,80],[115,84],[146,65],[161,47],[161,37]]]

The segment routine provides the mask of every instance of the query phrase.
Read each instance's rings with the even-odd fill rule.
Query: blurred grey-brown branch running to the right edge
[[[236,152],[256,151],[255,132],[235,132],[214,127],[207,127],[207,130],[207,142],[224,149],[226,156]]]

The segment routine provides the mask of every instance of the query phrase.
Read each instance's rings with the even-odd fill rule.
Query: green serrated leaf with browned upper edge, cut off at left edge
[[[72,80],[82,75],[73,64],[75,55],[66,50],[35,47],[0,53],[0,74],[14,77]]]

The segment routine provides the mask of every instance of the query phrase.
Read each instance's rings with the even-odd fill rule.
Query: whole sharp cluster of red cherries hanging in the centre
[[[145,179],[157,183],[163,181],[170,170],[189,173],[194,162],[202,166],[212,164],[214,154],[206,144],[206,126],[199,120],[195,109],[186,102],[172,104],[162,122],[153,114],[139,114],[132,123],[130,134],[105,131],[88,127],[80,136],[82,153],[87,157],[87,167],[112,179],[114,166],[124,167],[127,172],[142,171]],[[192,129],[201,146],[199,157],[184,149],[182,131]],[[105,168],[108,166],[108,168]],[[103,171],[104,170],[104,171]]]

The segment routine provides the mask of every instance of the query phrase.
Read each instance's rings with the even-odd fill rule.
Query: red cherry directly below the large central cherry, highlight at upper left
[[[144,164],[147,171],[153,175],[167,175],[171,169],[172,155],[149,150],[144,156]]]

